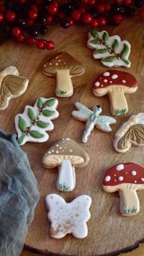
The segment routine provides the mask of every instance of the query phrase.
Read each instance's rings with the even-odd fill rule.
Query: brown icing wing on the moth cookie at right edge
[[[129,142],[134,142],[134,145],[144,144],[144,125],[131,126],[118,142],[118,149],[128,148]]]

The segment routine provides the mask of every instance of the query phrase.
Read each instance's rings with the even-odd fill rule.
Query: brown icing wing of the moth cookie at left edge
[[[20,76],[9,75],[2,80],[0,89],[0,108],[4,107],[7,103],[7,98],[11,95],[20,95],[20,92],[24,90],[27,78]]]

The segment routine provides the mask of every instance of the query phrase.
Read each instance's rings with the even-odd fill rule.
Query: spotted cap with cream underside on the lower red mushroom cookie
[[[124,185],[135,185],[135,190],[138,185],[142,185],[144,189],[144,168],[139,164],[123,163],[113,166],[107,170],[103,179],[103,188],[107,192],[117,191],[118,185],[121,189],[126,189]],[[123,187],[121,186],[123,185]],[[138,188],[140,189],[140,188]]]

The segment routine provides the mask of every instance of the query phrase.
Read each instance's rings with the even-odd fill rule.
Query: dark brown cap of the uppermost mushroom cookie
[[[56,76],[57,70],[70,70],[70,76],[79,76],[84,73],[85,67],[70,54],[59,53],[46,62],[43,73],[48,76]]]

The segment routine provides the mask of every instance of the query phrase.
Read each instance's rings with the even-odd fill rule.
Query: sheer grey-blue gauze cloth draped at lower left
[[[0,256],[18,256],[34,217],[39,193],[16,135],[0,129]]]

